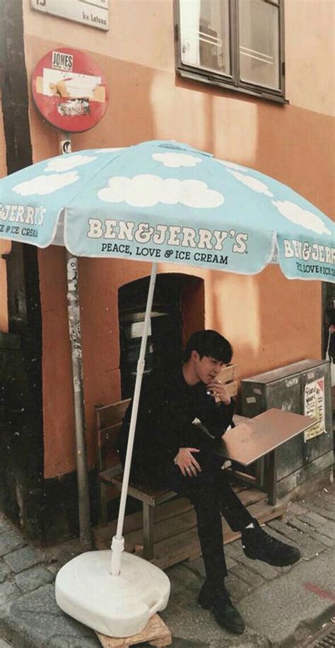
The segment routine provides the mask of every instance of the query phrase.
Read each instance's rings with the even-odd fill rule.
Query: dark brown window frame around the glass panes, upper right
[[[278,8],[278,30],[279,30],[279,81],[280,89],[270,89],[265,86],[248,83],[240,80],[240,47],[239,47],[239,0],[228,0],[229,11],[229,51],[231,75],[220,74],[202,67],[185,64],[182,62],[181,38],[180,38],[180,0],[174,0],[175,10],[175,61],[176,72],[179,76],[193,81],[218,86],[223,89],[257,96],[277,103],[289,103],[285,96],[285,33],[284,33],[284,1],[263,0]]]

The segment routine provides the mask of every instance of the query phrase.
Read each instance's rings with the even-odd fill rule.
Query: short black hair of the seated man
[[[208,356],[228,364],[233,358],[233,348],[223,335],[216,331],[197,331],[189,340],[184,350],[184,362],[191,358],[192,351],[197,351],[200,358]]]

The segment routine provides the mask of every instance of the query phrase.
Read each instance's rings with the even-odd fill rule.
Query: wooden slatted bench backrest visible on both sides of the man
[[[228,365],[221,370],[219,378],[225,382],[230,396],[237,394],[237,365]],[[109,405],[95,405],[97,427],[97,468],[98,472],[106,468],[106,456],[110,466],[119,465],[117,453],[117,434],[121,427],[130,398]]]

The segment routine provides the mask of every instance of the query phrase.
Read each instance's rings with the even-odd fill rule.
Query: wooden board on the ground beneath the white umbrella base
[[[172,644],[171,632],[158,614],[148,620],[146,627],[133,637],[107,637],[96,633],[102,648],[125,648],[134,644],[146,643],[157,648],[164,648]]]

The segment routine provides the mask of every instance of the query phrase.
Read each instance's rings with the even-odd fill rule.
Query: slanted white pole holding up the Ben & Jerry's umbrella
[[[126,462],[124,464],[124,476],[122,481],[122,491],[121,491],[121,499],[119,505],[119,517],[117,518],[117,533],[116,535],[114,535],[114,538],[112,539],[112,561],[110,564],[110,573],[112,574],[112,576],[117,576],[120,572],[121,555],[122,555],[122,551],[124,550],[124,538],[122,537],[123,524],[124,524],[124,512],[126,509],[129,474],[131,468],[131,456],[133,453],[137,411],[139,409],[139,397],[141,394],[141,384],[142,384],[142,377],[143,377],[145,357],[146,357],[146,341],[148,339],[148,330],[149,330],[149,324],[151,318],[151,308],[153,305],[153,291],[155,290],[156,274],[157,274],[157,263],[153,263],[153,266],[151,268],[151,278],[150,278],[150,284],[148,290],[148,299],[146,302],[146,316],[144,318],[143,334],[141,339],[141,349],[139,354],[139,361],[137,363],[137,373],[136,373],[136,382],[135,382],[135,390],[134,390],[134,398],[133,398],[133,407],[131,410],[127,455],[126,455]]]

